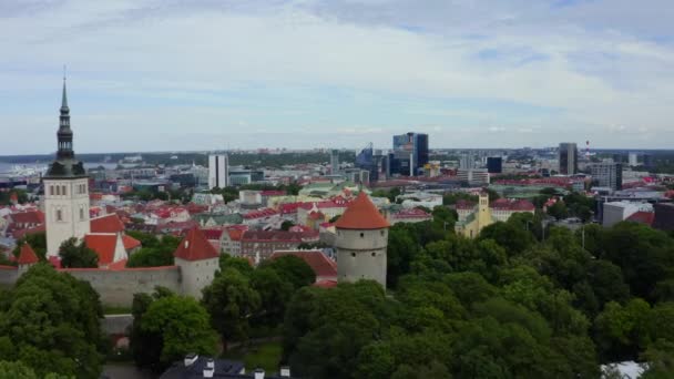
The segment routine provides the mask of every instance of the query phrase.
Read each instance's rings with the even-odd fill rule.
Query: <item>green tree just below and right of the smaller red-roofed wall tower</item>
[[[227,268],[203,289],[203,304],[221,334],[225,350],[231,341],[248,338],[249,318],[261,307],[259,294],[246,276]]]

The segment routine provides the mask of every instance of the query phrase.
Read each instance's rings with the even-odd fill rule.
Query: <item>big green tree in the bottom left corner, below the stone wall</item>
[[[38,264],[0,301],[0,350],[40,377],[58,372],[94,378],[106,342],[99,295],[86,281]]]

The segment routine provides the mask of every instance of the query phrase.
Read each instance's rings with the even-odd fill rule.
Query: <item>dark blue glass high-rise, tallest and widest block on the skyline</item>
[[[428,134],[410,132],[394,135],[394,152],[389,154],[391,174],[416,176],[423,172],[427,163]]]

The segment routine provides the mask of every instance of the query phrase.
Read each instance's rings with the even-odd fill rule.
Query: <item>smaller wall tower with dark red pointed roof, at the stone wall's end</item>
[[[173,256],[181,270],[183,294],[201,298],[202,289],[211,284],[219,269],[219,253],[204,233],[194,227],[181,240]]]

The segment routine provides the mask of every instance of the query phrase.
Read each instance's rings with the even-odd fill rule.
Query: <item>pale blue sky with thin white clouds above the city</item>
[[[674,146],[671,0],[2,0],[0,155]]]

